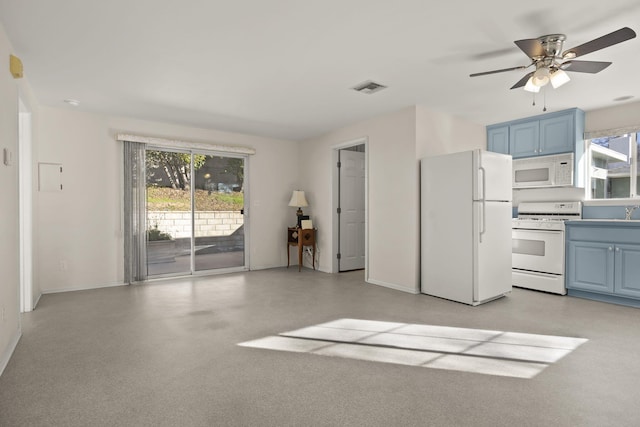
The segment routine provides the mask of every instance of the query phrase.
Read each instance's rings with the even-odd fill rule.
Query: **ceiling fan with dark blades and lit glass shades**
[[[518,80],[516,84],[511,86],[511,89],[524,86],[524,89],[529,92],[538,92],[548,83],[551,83],[555,89],[570,80],[565,71],[595,74],[611,65],[611,62],[574,61],[575,58],[622,43],[635,36],[636,33],[631,28],[624,27],[564,52],[562,45],[567,38],[564,34],[549,34],[535,39],[516,40],[514,43],[531,59],[531,64],[470,74],[470,77],[524,70],[535,66],[535,71]]]

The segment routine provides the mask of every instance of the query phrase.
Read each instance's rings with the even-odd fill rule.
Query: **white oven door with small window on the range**
[[[564,232],[512,230],[512,266],[520,270],[564,274]]]

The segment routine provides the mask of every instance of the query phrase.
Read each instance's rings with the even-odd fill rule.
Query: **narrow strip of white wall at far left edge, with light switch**
[[[18,82],[9,73],[12,53],[0,25],[0,374],[20,337],[19,204],[18,204]],[[2,162],[2,150],[13,163]]]

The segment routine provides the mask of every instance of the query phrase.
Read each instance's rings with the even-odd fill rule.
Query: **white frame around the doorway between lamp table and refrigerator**
[[[369,281],[369,138],[366,136],[331,146],[331,272],[339,273],[338,249],[340,247],[340,173],[339,151],[356,145],[364,145],[364,279]]]

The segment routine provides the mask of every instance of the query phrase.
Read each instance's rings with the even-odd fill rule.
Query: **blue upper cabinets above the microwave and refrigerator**
[[[505,135],[508,130],[508,149]],[[487,150],[520,157],[582,155],[584,112],[577,108],[487,126]]]

